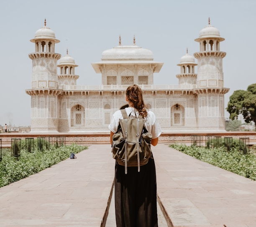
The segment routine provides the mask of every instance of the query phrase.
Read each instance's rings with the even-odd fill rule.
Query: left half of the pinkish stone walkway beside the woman
[[[91,145],[0,188],[1,227],[100,227],[114,179],[110,145]]]

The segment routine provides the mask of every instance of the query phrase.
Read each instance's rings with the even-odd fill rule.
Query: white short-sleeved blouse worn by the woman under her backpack
[[[138,110],[134,107],[127,107],[125,108],[125,110],[128,116],[131,113],[131,117],[135,117],[134,112],[136,113],[136,116],[139,115]],[[111,119],[110,125],[108,126],[110,131],[112,131],[113,133],[115,133],[118,129],[119,119],[123,119],[123,116],[120,110],[115,111]],[[156,119],[155,114],[152,111],[148,111],[148,115],[146,116],[145,127],[148,130],[148,132],[152,134],[152,139],[156,139],[160,136],[161,127],[159,122]]]

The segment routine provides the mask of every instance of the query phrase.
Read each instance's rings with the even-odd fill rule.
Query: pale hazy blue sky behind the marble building
[[[118,45],[136,45],[153,52],[164,62],[154,74],[154,84],[178,84],[177,64],[188,53],[199,51],[195,42],[202,28],[218,28],[223,58],[225,108],[235,90],[256,83],[255,0],[4,0],[0,3],[0,125],[30,125],[32,60],[36,30],[46,26],[61,42],[55,52],[67,48],[79,65],[77,85],[101,84],[101,74],[91,63],[101,61],[104,50]],[[196,70],[197,71],[197,70]],[[59,73],[59,70],[58,70]],[[229,114],[226,112],[225,116]]]

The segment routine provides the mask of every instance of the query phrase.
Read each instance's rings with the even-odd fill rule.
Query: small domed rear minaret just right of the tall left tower
[[[59,60],[58,67],[60,68],[60,73],[58,75],[58,84],[61,85],[77,85],[77,79],[79,76],[75,75],[75,64],[74,58],[69,56],[67,50],[67,55]]]

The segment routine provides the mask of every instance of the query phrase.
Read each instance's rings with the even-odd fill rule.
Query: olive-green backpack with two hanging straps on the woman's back
[[[113,158],[125,166],[125,174],[127,166],[138,166],[140,172],[140,166],[147,164],[152,157],[152,134],[144,126],[146,120],[141,115],[131,118],[131,113],[127,116],[125,109],[121,112],[123,119],[119,120],[118,130],[112,137]]]

